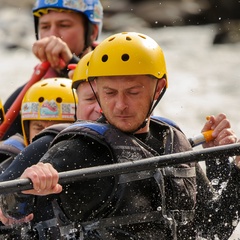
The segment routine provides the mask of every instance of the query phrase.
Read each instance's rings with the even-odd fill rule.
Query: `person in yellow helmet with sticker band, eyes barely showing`
[[[41,130],[60,122],[74,122],[77,98],[69,90],[71,80],[66,78],[49,78],[27,90],[21,103],[23,136],[15,134],[0,144],[2,171]],[[67,108],[71,108],[71,113],[67,113]]]

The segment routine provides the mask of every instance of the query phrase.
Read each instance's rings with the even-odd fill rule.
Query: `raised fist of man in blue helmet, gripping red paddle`
[[[73,56],[67,44],[55,36],[36,41],[33,44],[32,52],[41,62],[48,61],[56,70],[66,67]]]

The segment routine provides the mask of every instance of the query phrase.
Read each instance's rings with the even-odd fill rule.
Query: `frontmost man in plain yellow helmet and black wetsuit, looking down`
[[[219,197],[195,163],[58,183],[62,171],[192,150],[183,132],[150,118],[168,86],[164,54],[153,39],[135,32],[110,36],[94,50],[88,76],[106,122],[72,124],[24,171],[20,178],[34,188],[17,194],[33,201],[25,216],[33,210],[32,194],[48,195],[58,205],[63,239],[227,239],[239,209],[236,166]],[[226,139],[236,141],[232,132]],[[11,215],[17,208],[6,199],[2,210]]]

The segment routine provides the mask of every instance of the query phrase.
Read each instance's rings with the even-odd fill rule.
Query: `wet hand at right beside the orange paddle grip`
[[[226,115],[221,113],[218,116],[209,116],[202,132],[213,130],[213,140],[204,143],[204,148],[227,145],[237,142],[237,137],[231,129],[231,124]]]

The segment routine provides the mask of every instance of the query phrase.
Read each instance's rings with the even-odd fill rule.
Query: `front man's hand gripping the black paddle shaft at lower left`
[[[29,178],[33,183],[32,190],[22,191],[25,194],[43,196],[62,191],[62,186],[58,184],[58,172],[50,163],[39,162],[27,168],[20,178]]]

